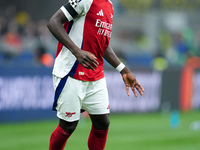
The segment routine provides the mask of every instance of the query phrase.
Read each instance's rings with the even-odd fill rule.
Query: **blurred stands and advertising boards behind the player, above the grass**
[[[57,41],[46,23],[65,2],[0,0],[0,128],[56,119],[51,71]],[[179,113],[195,111],[189,123],[196,121],[199,135],[200,0],[112,2],[111,46],[136,74],[145,94],[127,97],[120,74],[105,62],[111,113],[166,113],[172,127]]]

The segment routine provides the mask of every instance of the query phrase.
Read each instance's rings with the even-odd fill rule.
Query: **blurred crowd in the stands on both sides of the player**
[[[55,6],[56,0],[51,1],[35,0],[32,3],[36,6],[30,6],[25,0],[0,0],[3,4],[0,6],[1,65],[53,65],[57,41],[46,24],[60,5]],[[189,60],[196,68],[200,67],[200,0],[112,2],[115,16],[111,45],[126,64],[164,70],[169,66],[182,67]],[[46,11],[38,4],[44,5],[42,8],[50,14],[34,17]],[[35,11],[30,11],[30,7]],[[55,8],[50,11],[50,7]]]

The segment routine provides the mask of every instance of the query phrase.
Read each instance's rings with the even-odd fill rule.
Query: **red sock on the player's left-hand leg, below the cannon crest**
[[[58,125],[51,134],[49,150],[63,150],[70,135]]]

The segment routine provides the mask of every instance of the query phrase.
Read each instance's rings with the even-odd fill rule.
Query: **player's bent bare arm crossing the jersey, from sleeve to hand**
[[[67,47],[85,68],[95,70],[98,66],[96,57],[87,51],[81,50],[68,36],[63,24],[69,22],[63,11],[59,9],[49,20],[47,27],[55,38]]]

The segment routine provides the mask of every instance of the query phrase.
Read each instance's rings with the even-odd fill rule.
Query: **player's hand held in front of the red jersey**
[[[96,56],[90,52],[81,50],[76,56],[78,62],[87,69],[92,69],[93,71],[98,67],[99,63],[96,60]]]

